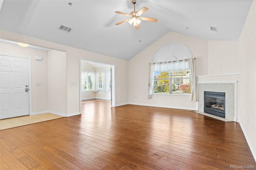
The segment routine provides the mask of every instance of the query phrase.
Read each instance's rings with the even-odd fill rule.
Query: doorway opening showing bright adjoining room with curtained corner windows
[[[80,113],[82,103],[109,101],[115,106],[114,65],[80,59]]]

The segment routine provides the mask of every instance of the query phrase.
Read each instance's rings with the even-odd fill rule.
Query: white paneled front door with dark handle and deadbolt
[[[28,58],[0,55],[0,119],[29,115]]]

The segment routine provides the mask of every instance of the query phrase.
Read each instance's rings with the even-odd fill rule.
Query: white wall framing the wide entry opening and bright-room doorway
[[[65,45],[32,38],[29,36],[23,36],[12,32],[0,30],[0,38],[11,40],[15,42],[23,42],[40,47],[46,47],[50,49],[56,49],[60,51],[66,51],[66,63],[67,63],[67,115],[80,114],[80,86],[72,86],[72,81],[79,82],[79,65],[80,59],[87,61],[94,61],[98,63],[106,63],[115,65],[115,106],[124,105],[128,103],[128,61],[117,59],[114,57],[85,51]]]

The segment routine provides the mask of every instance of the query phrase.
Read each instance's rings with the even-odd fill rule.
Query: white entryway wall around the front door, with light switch
[[[32,114],[48,112],[47,51],[6,43],[0,43],[0,51],[4,55],[31,58],[32,87],[30,87],[30,93],[32,93]],[[35,56],[42,57],[42,61],[35,60]],[[41,82],[40,86],[36,85],[38,81]]]

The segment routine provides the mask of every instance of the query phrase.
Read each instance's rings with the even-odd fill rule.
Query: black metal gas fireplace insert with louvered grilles
[[[225,118],[225,93],[204,91],[204,113]]]

